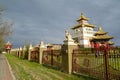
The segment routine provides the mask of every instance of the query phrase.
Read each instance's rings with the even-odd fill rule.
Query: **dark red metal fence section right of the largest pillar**
[[[73,50],[73,73],[100,80],[120,80],[120,54],[101,51],[96,56],[91,50]]]

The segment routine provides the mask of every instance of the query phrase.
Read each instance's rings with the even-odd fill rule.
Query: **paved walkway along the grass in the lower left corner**
[[[4,54],[0,54],[0,80],[13,80]]]

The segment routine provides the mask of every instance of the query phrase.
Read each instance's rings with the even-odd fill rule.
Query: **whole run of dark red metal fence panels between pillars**
[[[21,56],[30,56],[31,61],[39,62],[41,53],[39,49],[36,51],[15,51],[14,55],[22,58]],[[68,53],[69,52],[69,53]],[[97,52],[97,54],[96,54]],[[66,70],[68,72],[68,54],[71,54],[72,73],[80,75],[88,75],[98,78],[100,80],[120,80],[120,49],[111,49],[108,51],[93,49],[72,49],[68,51],[68,47],[58,50],[44,49],[42,51],[43,65],[50,66],[58,70]],[[64,55],[63,55],[64,54]],[[65,58],[66,61],[62,59]],[[64,63],[64,66],[63,66]],[[66,67],[67,66],[67,67]],[[63,69],[66,67],[65,69]]]

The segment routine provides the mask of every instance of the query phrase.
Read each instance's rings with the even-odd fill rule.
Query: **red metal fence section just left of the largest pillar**
[[[45,50],[43,51],[42,63],[57,69],[61,68],[62,55],[61,50]]]

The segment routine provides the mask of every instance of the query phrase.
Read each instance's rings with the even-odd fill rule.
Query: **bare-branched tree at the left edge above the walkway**
[[[4,9],[0,7],[0,51],[5,47],[6,37],[12,34],[12,23],[7,20],[3,20]]]

